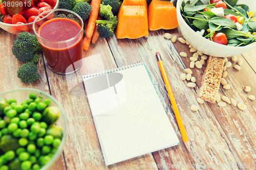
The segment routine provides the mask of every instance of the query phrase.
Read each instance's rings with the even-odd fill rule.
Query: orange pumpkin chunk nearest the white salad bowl
[[[148,29],[170,30],[179,27],[176,8],[169,1],[152,0],[148,6]]]

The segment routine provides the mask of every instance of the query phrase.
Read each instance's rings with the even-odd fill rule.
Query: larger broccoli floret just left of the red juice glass
[[[41,47],[35,35],[22,32],[13,41],[12,53],[20,61],[38,62],[38,52],[41,52]]]

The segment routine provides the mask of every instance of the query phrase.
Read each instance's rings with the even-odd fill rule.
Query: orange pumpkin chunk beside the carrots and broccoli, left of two
[[[117,19],[116,38],[136,39],[148,36],[146,7],[122,6]]]

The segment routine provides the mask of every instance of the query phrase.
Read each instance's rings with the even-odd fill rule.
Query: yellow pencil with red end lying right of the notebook
[[[178,126],[180,128],[180,133],[181,133],[182,139],[185,143],[185,146],[186,146],[187,150],[190,152],[190,142],[187,138],[187,134],[186,134],[186,131],[185,131],[185,128],[184,128],[184,125],[183,125],[183,122],[182,122],[182,119],[181,119],[181,116],[180,116],[180,112],[178,110],[176,101],[174,99],[174,94],[173,94],[172,88],[170,88],[170,83],[169,83],[168,77],[166,75],[164,66],[163,66],[163,61],[162,61],[161,56],[158,52],[156,53],[156,57],[157,57],[158,64],[159,64],[159,67],[160,67],[160,70],[161,70],[161,73],[162,73],[162,76],[163,76],[164,84],[165,84],[166,89],[167,89],[168,94],[169,94],[170,103],[172,103],[172,106],[173,106],[173,109],[174,109],[174,114],[176,116],[177,123],[178,123]]]

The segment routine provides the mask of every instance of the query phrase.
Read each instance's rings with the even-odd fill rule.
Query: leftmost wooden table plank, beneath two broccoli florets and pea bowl
[[[39,62],[36,64],[38,67],[39,79],[32,83],[23,83],[17,77],[17,70],[24,63],[18,61],[17,58],[13,56],[11,50],[12,43],[17,36],[4,30],[0,30],[0,35],[0,93],[16,88],[35,88],[49,93],[45,64],[42,57],[39,57]],[[59,169],[66,169],[63,154],[61,154],[49,170],[56,169],[57,167]]]

